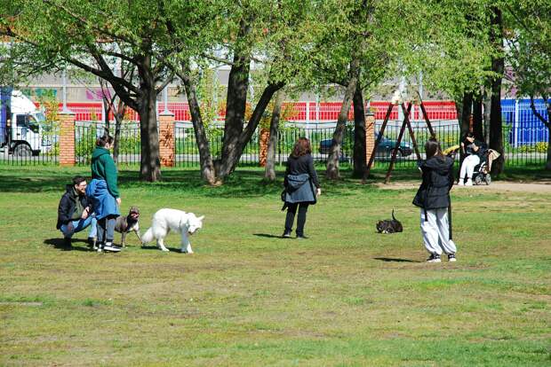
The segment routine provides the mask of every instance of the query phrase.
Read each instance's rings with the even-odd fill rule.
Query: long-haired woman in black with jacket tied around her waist
[[[311,153],[312,148],[310,147],[309,140],[306,137],[300,137],[287,160],[284,181],[284,201],[287,207],[287,215],[283,238],[291,238],[292,224],[294,223],[297,208],[299,209],[296,230],[297,238],[307,238],[304,235],[304,224],[306,223],[308,206],[310,204],[314,205],[316,197],[322,193]]]

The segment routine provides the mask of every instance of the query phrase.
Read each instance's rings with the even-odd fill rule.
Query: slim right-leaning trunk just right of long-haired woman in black
[[[344,136],[345,129],[347,129],[348,111],[350,111],[350,105],[352,104],[352,98],[354,97],[355,89],[358,84],[360,74],[360,60],[352,59],[350,63],[350,79],[348,80],[347,90],[340,105],[339,117],[337,118],[337,126],[335,132],[333,132],[331,149],[329,157],[327,158],[327,169],[325,170],[325,176],[330,180],[339,179],[339,156],[340,147],[342,145],[342,137]]]

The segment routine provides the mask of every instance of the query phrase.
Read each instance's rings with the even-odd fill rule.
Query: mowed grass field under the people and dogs
[[[161,207],[205,215],[204,229],[195,254],[173,234],[170,253],[132,234],[97,254],[82,232],[59,247],[57,206],[77,173],[89,174],[0,168],[0,365],[551,363],[548,191],[454,188],[458,262],[429,264],[413,189],[323,182],[302,241],[278,238],[281,179],[260,183],[258,169],[218,188],[195,170],[153,184],[123,171],[123,212],[140,207],[142,232]],[[393,208],[403,233],[377,234]]]

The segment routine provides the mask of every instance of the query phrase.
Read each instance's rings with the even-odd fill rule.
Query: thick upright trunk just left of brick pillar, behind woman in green
[[[148,61],[148,57],[145,58]],[[155,78],[150,67],[140,73],[141,95],[140,114],[140,179],[155,182],[161,178],[161,160],[159,157],[159,133],[156,120]]]

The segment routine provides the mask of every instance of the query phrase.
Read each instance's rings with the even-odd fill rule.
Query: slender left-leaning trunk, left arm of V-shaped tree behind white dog
[[[201,117],[201,109],[199,108],[199,102],[197,100],[196,87],[189,78],[189,66],[187,64],[183,64],[182,69],[183,73],[179,74],[179,76],[184,83],[186,96],[188,97],[189,113],[191,114],[193,130],[196,135],[197,149],[199,149],[201,177],[203,177],[206,183],[215,185],[218,183],[216,180],[216,171],[212,161],[209,139],[207,138],[206,131],[204,130],[203,117]]]

